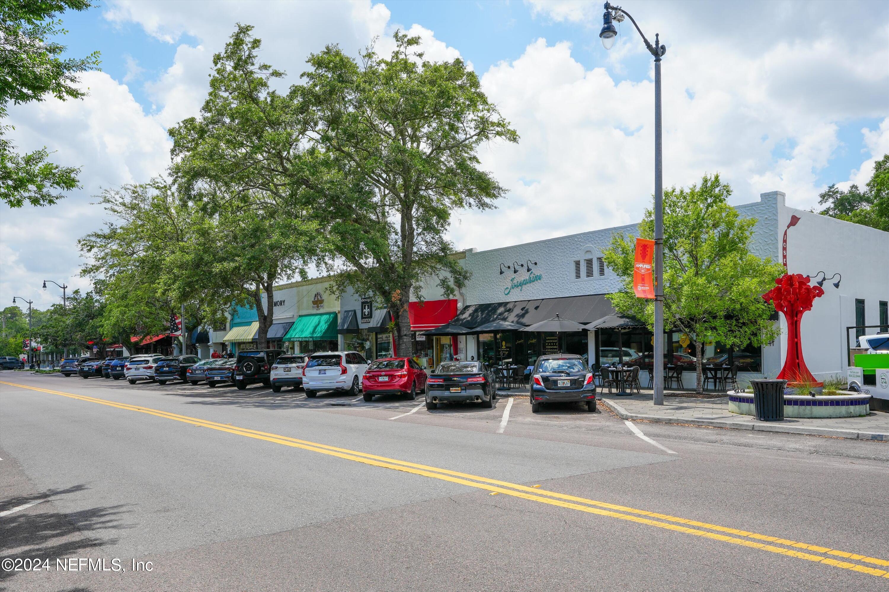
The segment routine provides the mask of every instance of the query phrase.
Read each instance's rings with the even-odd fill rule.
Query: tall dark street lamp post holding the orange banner
[[[654,405],[664,404],[664,288],[663,288],[663,162],[661,143],[661,58],[667,47],[661,45],[659,34],[654,35],[654,44],[642,33],[636,20],[620,6],[605,3],[605,14],[602,17],[602,31],[599,37],[606,50],[610,50],[617,36],[613,21],[621,22],[628,17],[633,26],[642,36],[645,47],[654,56],[654,367],[653,387]]]

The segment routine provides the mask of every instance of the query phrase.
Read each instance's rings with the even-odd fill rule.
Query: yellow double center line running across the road
[[[503,493],[505,495],[511,495],[513,497],[521,498],[523,500],[537,501],[540,503],[549,504],[551,506],[574,509],[581,512],[587,512],[589,514],[598,514],[599,516],[620,518],[621,520],[629,520],[630,522],[637,522],[643,525],[655,526],[657,528],[663,528],[666,530],[675,531],[677,533],[691,534],[714,541],[722,541],[731,543],[733,545],[741,545],[742,547],[749,547],[752,549],[768,551],[770,553],[777,553],[779,555],[797,557],[799,559],[805,559],[814,563],[833,565],[834,567],[839,567],[841,569],[850,570],[853,572],[867,573],[872,576],[889,579],[889,561],[885,559],[879,559],[877,557],[865,556],[858,553],[849,553],[847,551],[830,549],[828,547],[821,547],[819,545],[813,545],[805,542],[789,541],[788,539],[781,539],[779,537],[769,536],[767,534],[752,533],[737,528],[712,525],[697,520],[688,520],[686,518],[669,516],[668,514],[649,512],[644,509],[628,508],[626,506],[607,503],[605,501],[588,500],[586,498],[568,495],[565,493],[550,492],[545,489],[537,489],[528,487],[526,485],[509,483],[507,481],[478,477],[477,475],[470,475],[468,473],[461,473],[454,470],[438,469],[436,467],[430,467],[428,465],[418,464],[416,462],[399,461],[396,459],[387,458],[385,456],[357,452],[355,450],[348,450],[348,448],[340,448],[337,446],[327,446],[325,444],[318,444],[316,442],[309,442],[308,440],[300,440],[298,438],[288,438],[286,436],[271,434],[264,431],[238,428],[228,423],[211,422],[204,419],[198,419],[196,417],[188,417],[188,415],[173,414],[149,407],[127,405],[125,403],[117,403],[116,401],[109,401],[106,399],[96,399],[94,397],[87,397],[85,395],[76,395],[70,392],[40,389],[33,386],[26,386],[24,384],[6,383],[4,381],[0,381],[0,384],[17,386],[22,389],[29,389],[31,391],[47,392],[53,395],[68,397],[70,399],[78,399],[82,401],[88,401],[90,403],[99,403],[100,405],[117,407],[119,409],[126,409],[128,411],[138,411],[140,413],[156,415],[157,417],[163,417],[165,419],[172,419],[177,422],[186,422],[204,428],[211,428],[212,430],[226,431],[230,434],[236,434],[238,436],[266,440],[268,442],[274,442],[275,444],[282,444],[284,446],[292,446],[294,448],[302,448],[303,450],[310,450],[312,452],[320,454],[328,454],[330,456],[336,456],[348,461],[362,462],[374,467],[401,470],[406,473],[412,473],[414,475],[420,475],[422,477],[441,479],[443,481],[450,481],[451,483],[457,483],[459,485],[468,485],[469,487],[484,489],[492,493]],[[655,520],[653,518],[658,519]],[[708,530],[701,530],[702,528],[706,528]],[[783,545],[784,547],[776,547],[775,545]],[[811,551],[811,553],[807,553],[805,551]],[[820,553],[821,555],[813,555],[813,553]],[[864,564],[879,565],[884,569],[870,567],[869,565],[853,564],[849,561],[843,561],[835,557],[842,557],[843,559],[859,561]]]

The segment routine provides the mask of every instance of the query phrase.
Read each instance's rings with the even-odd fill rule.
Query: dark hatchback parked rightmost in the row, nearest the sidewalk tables
[[[531,411],[543,403],[586,403],[596,411],[596,382],[583,359],[572,353],[541,356],[534,363],[530,386]]]

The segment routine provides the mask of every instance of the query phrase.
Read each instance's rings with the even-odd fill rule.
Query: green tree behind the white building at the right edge
[[[864,191],[858,185],[846,191],[830,185],[818,196],[818,203],[827,205],[820,214],[889,232],[889,154],[874,163],[874,174]]]

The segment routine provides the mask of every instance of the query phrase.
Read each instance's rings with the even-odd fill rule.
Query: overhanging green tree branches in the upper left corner
[[[57,14],[84,11],[88,0],[3,0],[0,2],[0,199],[12,208],[25,201],[44,206],[55,203],[77,186],[76,167],[63,167],[47,159],[44,147],[19,154],[6,138],[12,130],[2,120],[10,102],[15,105],[44,100],[82,99],[77,74],[97,69],[99,52],[85,58],[63,58],[65,46],[52,37],[67,33]]]

